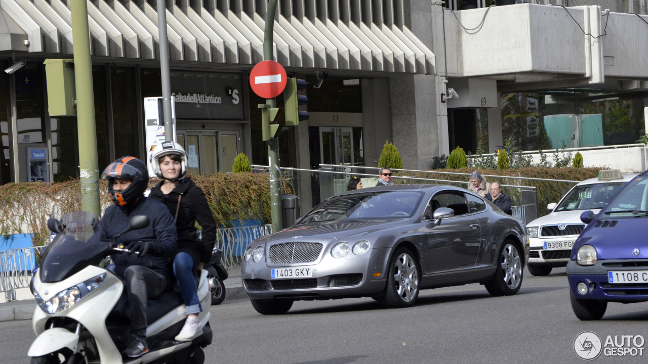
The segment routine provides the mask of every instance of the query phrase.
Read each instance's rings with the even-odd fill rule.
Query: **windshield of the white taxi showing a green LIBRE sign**
[[[623,182],[601,182],[574,187],[562,199],[556,211],[603,209],[610,198],[619,192]]]

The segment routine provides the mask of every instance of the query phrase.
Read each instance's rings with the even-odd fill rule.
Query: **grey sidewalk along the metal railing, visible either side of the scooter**
[[[225,280],[226,297],[222,304],[227,304],[227,301],[247,299],[248,295],[245,294],[241,282],[240,268],[227,269],[227,273],[229,277]],[[34,315],[34,309],[36,309],[34,299],[0,303],[0,321],[30,320]]]

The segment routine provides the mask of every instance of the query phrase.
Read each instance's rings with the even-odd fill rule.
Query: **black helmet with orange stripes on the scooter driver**
[[[113,189],[115,178],[130,179],[130,185],[117,192]],[[108,181],[108,196],[115,205],[130,205],[144,195],[148,185],[148,168],[140,159],[121,157],[104,169],[101,179]]]

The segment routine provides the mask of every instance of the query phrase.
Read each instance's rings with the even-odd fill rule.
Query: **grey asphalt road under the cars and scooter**
[[[470,284],[422,291],[417,306],[400,310],[345,299],[295,302],[286,315],[264,316],[239,300],[211,308],[214,342],[205,363],[584,363],[573,350],[578,334],[595,332],[604,343],[607,336],[648,340],[647,308],[610,304],[601,321],[579,321],[564,268],[550,277],[525,271],[512,297],[491,297]],[[33,338],[30,321],[0,323],[0,363],[29,363]],[[594,362],[647,360],[645,352],[601,354]]]

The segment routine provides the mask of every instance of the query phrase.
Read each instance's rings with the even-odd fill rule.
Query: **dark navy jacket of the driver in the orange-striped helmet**
[[[148,216],[150,221],[148,226],[119,236],[117,242],[128,245],[128,243],[136,240],[149,241],[148,253],[141,258],[134,254],[126,255],[125,253],[111,255],[113,262],[115,262],[115,273],[124,278],[124,270],[127,267],[145,266],[172,278],[173,272],[169,269],[167,258],[176,254],[178,235],[171,214],[161,203],[142,196],[133,205],[128,205],[127,209],[117,205],[109,206],[99,223],[100,238],[107,240],[121,233],[128,227],[130,218],[135,215]],[[175,279],[170,279],[170,282],[175,281]]]

